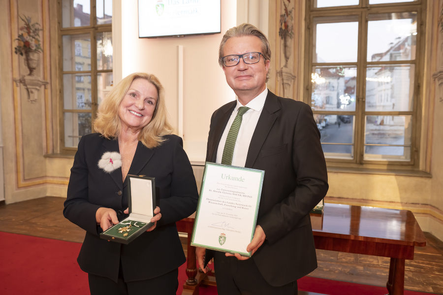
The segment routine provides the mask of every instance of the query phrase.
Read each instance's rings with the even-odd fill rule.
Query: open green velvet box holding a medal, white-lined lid
[[[129,216],[100,233],[102,239],[123,244],[129,244],[154,225],[151,218],[156,208],[155,178],[128,174],[126,182]]]

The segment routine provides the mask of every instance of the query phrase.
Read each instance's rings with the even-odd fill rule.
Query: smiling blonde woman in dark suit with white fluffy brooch
[[[157,77],[124,78],[100,104],[94,130],[78,144],[63,210],[86,230],[77,261],[88,272],[91,294],[175,295],[178,267],[186,261],[175,222],[195,211],[198,194]],[[99,163],[104,158],[106,165]],[[155,177],[158,206],[154,226],[123,245],[99,233],[128,213],[127,174]]]

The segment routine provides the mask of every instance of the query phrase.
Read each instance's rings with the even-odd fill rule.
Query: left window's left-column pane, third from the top
[[[91,109],[91,75],[63,75],[63,108]]]

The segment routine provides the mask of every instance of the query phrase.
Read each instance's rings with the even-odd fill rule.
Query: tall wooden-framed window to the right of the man
[[[307,97],[329,163],[417,164],[425,0],[309,0]]]

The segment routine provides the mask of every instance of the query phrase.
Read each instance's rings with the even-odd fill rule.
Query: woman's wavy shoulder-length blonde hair
[[[171,134],[172,127],[167,120],[163,86],[158,78],[152,74],[141,72],[132,73],[114,86],[98,106],[97,117],[94,121],[94,130],[108,139],[116,139],[118,137],[122,129],[119,117],[119,106],[132,81],[135,79],[145,79],[157,88],[158,98],[151,122],[143,127],[138,135],[138,140],[148,148],[153,148],[164,141],[163,135]]]

